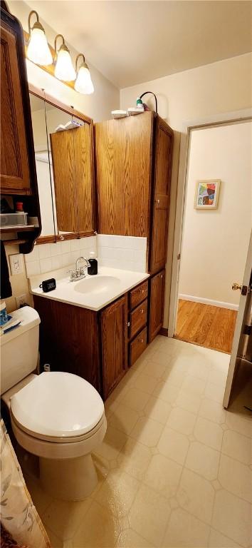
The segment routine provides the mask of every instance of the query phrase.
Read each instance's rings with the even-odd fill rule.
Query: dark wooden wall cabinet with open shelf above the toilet
[[[1,195],[22,201],[33,218],[31,227],[16,230],[16,243],[29,253],[41,232],[36,164],[21,24],[1,1]],[[34,218],[36,219],[34,221]],[[15,233],[8,226],[1,233]],[[22,234],[21,234],[22,233]],[[16,237],[15,237],[16,238]],[[21,240],[22,238],[22,240]],[[14,240],[14,237],[11,237]]]

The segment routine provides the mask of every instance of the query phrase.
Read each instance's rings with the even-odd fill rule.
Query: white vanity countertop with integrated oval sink
[[[40,283],[49,277],[45,274],[41,275]],[[87,274],[83,280],[70,282],[69,275],[67,278],[56,280],[56,289],[48,293],[43,293],[42,288],[38,287],[38,276],[36,276],[36,285],[34,286],[32,279],[30,279],[30,286],[33,295],[59,300],[61,303],[68,303],[97,312],[127,293],[127,291],[130,291],[135,285],[147,280],[147,278],[149,278],[147,273],[101,266],[98,268],[97,275],[90,276]]]

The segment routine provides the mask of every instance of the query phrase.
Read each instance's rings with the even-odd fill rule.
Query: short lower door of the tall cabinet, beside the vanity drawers
[[[163,325],[165,270],[150,280],[149,342],[156,337]]]

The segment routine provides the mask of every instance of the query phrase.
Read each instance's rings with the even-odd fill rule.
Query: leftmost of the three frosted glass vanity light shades
[[[36,15],[36,22],[31,29],[31,16]],[[27,48],[27,57],[33,63],[38,65],[51,65],[53,63],[53,57],[48,46],[46,39],[46,33],[43,26],[39,22],[38,14],[36,11],[31,11],[28,16],[28,29],[29,29],[29,42]]]

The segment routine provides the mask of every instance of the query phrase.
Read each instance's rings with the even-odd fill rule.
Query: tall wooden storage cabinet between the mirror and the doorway
[[[98,232],[147,238],[149,340],[163,319],[172,151],[173,131],[154,112],[95,124]]]

